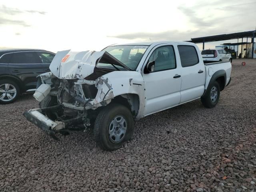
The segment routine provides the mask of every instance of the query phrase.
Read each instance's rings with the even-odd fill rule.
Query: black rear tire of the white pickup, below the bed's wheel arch
[[[213,92],[215,92],[215,88],[217,93],[216,98],[213,95]],[[203,106],[207,108],[213,108],[218,103],[219,98],[220,98],[220,85],[218,84],[218,82],[214,81],[211,85],[209,85],[204,96],[201,97],[201,102]]]

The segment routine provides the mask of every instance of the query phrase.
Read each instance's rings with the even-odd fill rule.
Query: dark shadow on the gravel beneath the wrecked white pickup
[[[161,131],[164,134],[173,133],[176,129],[176,125],[172,125],[172,122],[181,126],[182,122],[189,122],[191,115],[197,114],[197,111],[201,109],[205,108],[200,103],[200,100],[195,100],[142,118],[135,122],[134,135],[130,141],[124,143],[123,147],[132,150],[134,145],[144,145],[144,139],[149,138],[152,134],[159,134],[160,127],[164,127]],[[50,136],[44,134],[42,131],[38,133],[38,137],[41,138],[39,142],[42,146],[47,142],[54,142],[57,145],[56,150],[60,150],[60,147],[64,147],[67,151],[93,150],[96,148],[98,151],[104,152],[96,146],[93,126],[86,132],[70,131],[69,135],[64,136],[62,134],[56,134],[56,136],[59,138],[59,141],[50,138]]]

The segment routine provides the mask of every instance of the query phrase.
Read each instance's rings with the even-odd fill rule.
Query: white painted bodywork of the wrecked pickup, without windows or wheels
[[[105,106],[116,96],[122,96],[128,99],[132,108],[137,109],[135,118],[139,119],[149,114],[200,98],[207,89],[214,73],[219,70],[225,71],[226,84],[230,80],[230,62],[204,65],[200,50],[193,43],[165,41],[153,43],[137,42],[134,44],[149,45],[136,70],[112,71],[90,82],[91,84],[95,84],[98,93],[94,99],[87,99],[86,109],[96,109],[100,106]],[[198,64],[182,67],[178,45],[194,46],[198,54]],[[173,46],[176,68],[144,74],[144,68],[150,55],[160,46]],[[79,79],[75,84],[76,86],[80,86],[88,83],[84,78],[93,73],[97,60],[103,54],[104,51],[71,52],[67,50],[58,52],[50,69],[54,76],[60,79]],[[65,55],[68,55],[66,59],[64,59]],[[44,75],[40,75],[41,79]],[[180,77],[174,78],[177,75],[180,75]],[[134,101],[131,95],[138,96],[139,101],[137,104],[132,103]],[[72,106],[72,104],[64,103],[63,105],[83,110],[82,107]]]

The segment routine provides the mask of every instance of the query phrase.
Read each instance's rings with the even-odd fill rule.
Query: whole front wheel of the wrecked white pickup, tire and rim
[[[132,137],[134,120],[130,110],[121,104],[109,104],[98,114],[94,124],[96,143],[103,150],[116,150]]]

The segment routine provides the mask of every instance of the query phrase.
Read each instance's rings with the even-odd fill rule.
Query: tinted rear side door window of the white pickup
[[[198,64],[196,48],[189,45],[178,45],[180,62],[182,67],[189,67]]]

